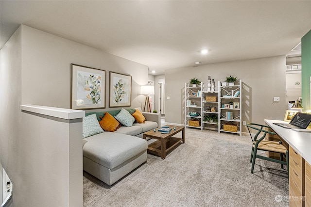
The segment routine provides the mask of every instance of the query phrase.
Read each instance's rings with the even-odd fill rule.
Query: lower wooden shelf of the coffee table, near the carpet
[[[165,146],[166,146],[165,149],[161,149],[161,142],[166,142],[165,143]],[[177,138],[177,137],[170,137],[169,139],[166,139],[166,140],[164,140],[164,139],[157,140],[154,143],[151,143],[148,145],[148,153],[162,157],[163,154],[166,155],[167,152],[169,152],[175,146],[177,146],[179,143],[182,143],[182,142],[183,142],[183,139]],[[163,150],[163,153],[161,150]],[[163,159],[163,157],[162,157],[162,159]],[[164,159],[165,159],[165,157],[164,157]]]

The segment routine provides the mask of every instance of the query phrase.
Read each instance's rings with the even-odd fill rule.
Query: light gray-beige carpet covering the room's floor
[[[84,172],[84,207],[288,206],[286,170],[256,159],[250,173],[249,136],[191,128],[185,134],[186,143],[166,159],[148,154],[145,164],[112,186]]]

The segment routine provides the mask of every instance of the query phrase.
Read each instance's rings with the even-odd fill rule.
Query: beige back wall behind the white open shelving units
[[[264,119],[283,119],[285,68],[285,56],[276,56],[166,70],[165,96],[171,98],[165,100],[165,121],[184,124],[184,87],[190,78],[207,83],[207,76],[218,82],[230,75],[243,81],[242,121],[264,124]],[[280,102],[273,102],[274,96],[280,97]]]

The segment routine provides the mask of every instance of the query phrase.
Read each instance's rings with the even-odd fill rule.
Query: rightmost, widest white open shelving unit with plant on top
[[[242,136],[242,80],[239,80],[239,85],[233,86],[222,86],[220,81],[218,81],[218,90],[219,90],[219,132],[228,132],[235,133]],[[239,91],[239,95],[234,97],[234,94]],[[233,95],[232,95],[233,94]],[[228,104],[230,101],[234,103],[239,103],[239,108],[233,109],[223,107],[225,104]],[[232,113],[232,117],[228,119],[226,117],[226,111]],[[226,131],[224,130],[224,124],[233,124],[238,126],[238,131]]]

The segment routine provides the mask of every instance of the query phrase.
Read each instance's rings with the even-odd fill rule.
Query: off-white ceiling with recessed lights
[[[311,1],[0,0],[0,47],[20,24],[164,70],[286,55]],[[207,55],[200,54],[208,49]]]

